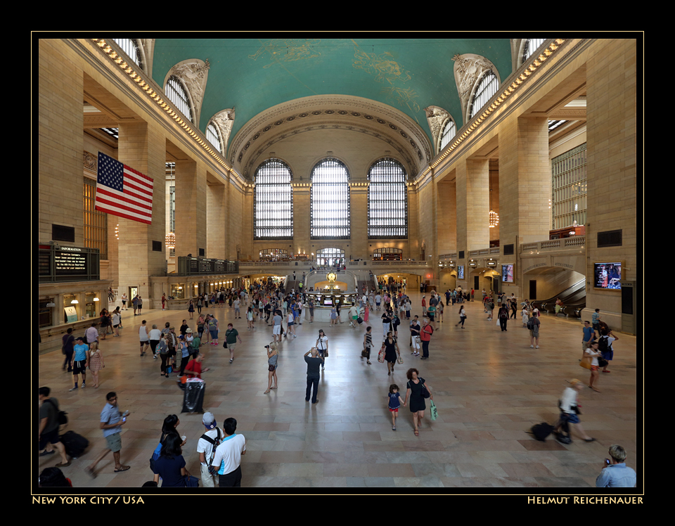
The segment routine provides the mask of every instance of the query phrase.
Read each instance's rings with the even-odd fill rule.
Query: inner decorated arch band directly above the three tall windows
[[[330,111],[330,110],[329,110]],[[327,113],[327,112],[326,112]],[[337,113],[337,112],[335,112]],[[291,115],[290,117],[293,117],[293,120],[295,120],[295,116]],[[301,117],[302,118],[302,117]],[[286,123],[286,120],[283,120],[283,123]],[[268,127],[266,127],[268,128]],[[269,127],[271,128],[271,127]],[[419,149],[416,150],[416,157],[419,158],[412,158],[410,153],[411,153],[411,146],[408,146],[408,143],[401,143],[400,141],[396,141],[395,136],[392,136],[391,134],[383,134],[380,133],[381,130],[378,129],[375,126],[366,126],[364,125],[356,125],[354,122],[345,122],[341,120],[320,120],[319,122],[314,123],[309,123],[309,124],[298,124],[293,127],[285,126],[283,129],[278,129],[276,134],[269,134],[269,136],[263,137],[264,142],[258,143],[259,146],[256,150],[250,150],[248,152],[247,158],[248,160],[246,161],[245,165],[240,165],[240,173],[244,176],[247,177],[248,179],[252,179],[252,172],[253,168],[257,167],[259,165],[258,159],[260,158],[261,155],[264,154],[265,150],[267,148],[271,148],[271,146],[274,145],[274,143],[277,143],[279,141],[283,141],[284,139],[287,139],[290,136],[295,136],[297,134],[302,134],[306,133],[307,131],[317,131],[317,130],[322,130],[322,129],[342,129],[342,130],[348,130],[348,131],[356,131],[362,134],[370,135],[375,137],[375,139],[380,139],[381,141],[385,141],[387,144],[389,144],[394,150],[396,150],[400,155],[401,158],[403,158],[404,162],[406,165],[408,165],[408,172],[409,174],[416,174],[420,170],[420,164],[422,160],[422,153]],[[268,131],[270,131],[268,129]],[[405,131],[399,130],[399,133],[401,133],[401,136],[404,137],[404,139],[408,139],[411,143],[414,144],[414,141],[409,138],[408,134],[405,133]],[[255,145],[255,141],[257,139],[260,139],[261,135],[260,134],[255,134],[252,137],[252,140],[246,143],[244,146],[243,150],[239,153],[238,156],[238,164],[241,163],[243,160],[243,155],[246,150],[250,148],[250,146],[257,146]],[[410,177],[410,176],[409,176]]]

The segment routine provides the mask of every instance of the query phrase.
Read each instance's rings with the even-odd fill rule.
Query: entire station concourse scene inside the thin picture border
[[[34,481],[640,492],[638,39],[494,35],[35,41]]]

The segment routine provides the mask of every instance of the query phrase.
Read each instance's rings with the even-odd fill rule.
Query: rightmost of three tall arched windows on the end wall
[[[375,162],[368,170],[368,237],[408,237],[406,171],[395,159]]]

